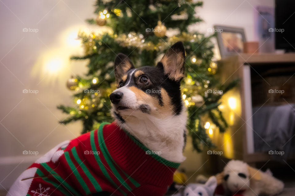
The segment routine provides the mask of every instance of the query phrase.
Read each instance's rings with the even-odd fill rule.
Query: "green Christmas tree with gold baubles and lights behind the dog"
[[[213,144],[206,134],[206,121],[214,123],[224,132],[227,123],[218,109],[222,94],[237,81],[219,85],[215,72],[214,45],[211,36],[189,32],[188,26],[202,22],[195,17],[195,8],[203,2],[177,0],[113,0],[95,4],[96,19],[88,19],[91,25],[109,27],[105,33],[80,32],[85,49],[84,56],[74,60],[88,60],[88,73],[69,79],[68,88],[75,91],[76,107],[58,106],[69,117],[61,121],[67,124],[81,120],[82,133],[96,129],[102,122],[112,122],[109,94],[116,89],[114,59],[124,53],[135,66],[154,66],[161,55],[177,41],[182,41],[186,50],[185,78],[182,83],[183,100],[188,111],[187,130],[197,151],[204,144]],[[174,35],[166,36],[166,32]],[[218,89],[218,93],[212,93]]]

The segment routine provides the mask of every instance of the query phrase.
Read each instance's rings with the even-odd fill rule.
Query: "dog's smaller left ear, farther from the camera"
[[[119,53],[114,62],[116,82],[119,83],[122,76],[127,73],[128,70],[133,69],[134,66],[128,56]]]

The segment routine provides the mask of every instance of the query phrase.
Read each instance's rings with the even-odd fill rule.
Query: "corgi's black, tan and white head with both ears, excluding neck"
[[[184,77],[185,50],[177,42],[156,66],[135,69],[130,59],[118,54],[115,59],[117,88],[110,94],[114,117],[125,122],[126,117],[146,114],[168,118],[180,115],[183,100],[180,82]]]

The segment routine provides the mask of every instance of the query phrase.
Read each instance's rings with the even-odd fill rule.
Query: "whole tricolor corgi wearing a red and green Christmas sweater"
[[[136,69],[118,54],[118,88],[109,95],[115,121],[57,145],[7,195],[164,195],[185,160],[184,64],[181,42],[154,67]]]

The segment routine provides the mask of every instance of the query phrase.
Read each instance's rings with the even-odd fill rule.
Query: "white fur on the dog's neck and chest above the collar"
[[[181,163],[183,156],[184,131],[186,129],[187,114],[185,109],[179,115],[159,119],[151,115],[134,111],[128,116],[128,122],[117,123],[135,136],[151,153],[156,153],[166,160]]]

